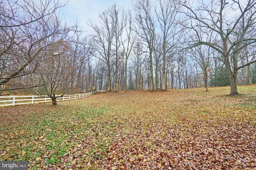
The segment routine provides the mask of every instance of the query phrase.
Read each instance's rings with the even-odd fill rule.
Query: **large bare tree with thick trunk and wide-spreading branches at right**
[[[253,58],[244,65],[238,65],[239,53],[256,42],[256,0],[212,0],[200,1],[198,7],[180,3],[184,14],[190,20],[190,35],[194,31],[197,41],[192,46],[207,45],[221,54],[219,58],[225,65],[230,80],[230,95],[238,94],[237,73],[240,68],[255,63]],[[230,12],[232,11],[232,12]],[[200,37],[201,33],[212,33],[212,41]]]

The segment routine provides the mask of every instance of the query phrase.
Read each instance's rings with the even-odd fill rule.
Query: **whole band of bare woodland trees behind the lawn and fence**
[[[72,2],[69,2],[72,3]],[[256,0],[135,0],[78,25],[44,0],[0,0],[0,87],[63,96],[92,90],[256,83]]]

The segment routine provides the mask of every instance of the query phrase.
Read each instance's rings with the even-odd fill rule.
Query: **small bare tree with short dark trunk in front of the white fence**
[[[49,51],[44,53],[44,62],[40,63],[39,83],[42,86],[34,90],[41,96],[49,96],[53,105],[57,104],[57,98],[63,97],[76,87],[74,81],[77,78],[78,62],[73,53],[70,44],[60,39],[54,46],[49,47]]]

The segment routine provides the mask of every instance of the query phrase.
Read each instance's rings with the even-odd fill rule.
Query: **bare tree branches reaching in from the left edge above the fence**
[[[10,80],[31,74],[40,63],[42,52],[54,42],[51,37],[66,37],[74,27],[62,26],[56,10],[65,4],[52,0],[1,0],[0,3],[0,86],[5,89],[29,88],[37,84]],[[50,43],[50,44],[49,44]],[[29,69],[28,69],[29,66]]]

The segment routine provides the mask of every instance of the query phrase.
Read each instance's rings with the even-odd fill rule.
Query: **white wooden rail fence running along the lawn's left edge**
[[[74,100],[85,98],[96,93],[105,92],[105,90],[97,90],[94,92],[84,94],[72,94],[66,95],[61,98],[57,98],[57,101]],[[52,102],[52,99],[48,96],[0,96],[0,107],[1,106],[15,106],[20,104],[34,104],[34,103],[46,103]]]

